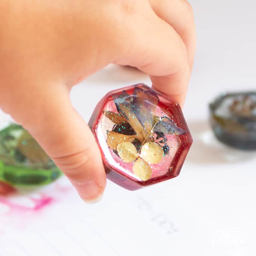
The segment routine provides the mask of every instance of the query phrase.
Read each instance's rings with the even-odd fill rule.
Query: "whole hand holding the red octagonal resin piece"
[[[150,75],[183,105],[195,53],[184,0],[1,0],[0,106],[24,126],[85,201],[105,188],[101,154],[71,87],[109,63]],[[139,82],[139,81],[138,81]]]

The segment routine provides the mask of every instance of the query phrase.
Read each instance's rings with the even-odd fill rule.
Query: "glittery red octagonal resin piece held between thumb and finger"
[[[107,93],[89,126],[107,177],[129,190],[176,177],[192,144],[180,106],[145,84]]]

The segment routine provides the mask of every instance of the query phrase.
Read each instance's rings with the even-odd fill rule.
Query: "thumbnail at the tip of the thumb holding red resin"
[[[93,204],[101,201],[103,189],[93,180],[83,184],[82,199],[85,203]]]

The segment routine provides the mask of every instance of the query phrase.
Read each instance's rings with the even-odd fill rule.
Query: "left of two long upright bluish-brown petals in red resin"
[[[125,117],[127,122],[130,123],[133,130],[139,136],[140,140],[143,141],[147,133],[133,112],[133,96],[127,94],[126,91],[122,91],[121,94],[113,95],[113,101],[116,104],[118,113]]]

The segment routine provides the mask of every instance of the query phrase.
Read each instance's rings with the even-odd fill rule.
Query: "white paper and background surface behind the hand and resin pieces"
[[[73,189],[36,213],[10,215],[0,205],[0,256],[256,254],[256,152],[222,145],[208,125],[215,96],[256,89],[256,5],[191,4],[198,44],[184,116],[194,144],[180,176],[136,192],[109,181],[97,205],[85,205]],[[105,93],[138,82],[150,85],[145,74],[110,65],[76,86],[72,102],[88,120]]]

